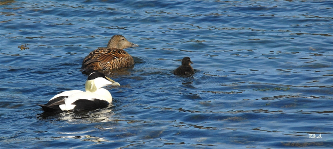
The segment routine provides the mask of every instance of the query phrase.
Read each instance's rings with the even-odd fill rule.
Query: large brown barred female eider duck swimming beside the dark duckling
[[[114,35],[109,40],[107,48],[98,48],[86,56],[82,62],[81,72],[131,67],[134,65],[134,59],[123,50],[131,47],[139,46],[122,35]]]

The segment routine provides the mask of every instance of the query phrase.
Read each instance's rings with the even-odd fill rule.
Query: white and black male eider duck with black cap
[[[65,91],[52,97],[46,104],[37,104],[45,112],[76,112],[106,108],[112,102],[110,92],[102,87],[120,86],[118,82],[103,73],[94,72],[86,81],[86,92],[80,90]]]

